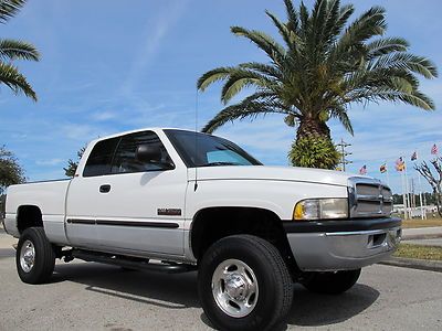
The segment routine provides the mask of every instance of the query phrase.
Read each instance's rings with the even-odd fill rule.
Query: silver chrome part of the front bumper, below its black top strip
[[[287,233],[297,266],[303,271],[358,269],[389,257],[401,239],[401,228]]]

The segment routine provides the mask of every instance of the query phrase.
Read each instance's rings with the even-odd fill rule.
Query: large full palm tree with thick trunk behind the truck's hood
[[[285,124],[297,128],[288,153],[292,163],[334,169],[338,153],[327,121],[337,118],[352,135],[351,104],[387,100],[434,109],[433,102],[420,92],[417,75],[433,78],[438,71],[430,60],[408,53],[404,39],[383,36],[385,9],[372,7],[347,23],[354,7],[340,6],[339,0],[317,0],[312,11],[303,2],[298,9],[292,0],[284,2],[285,22],[266,11],[283,43],[264,32],[231,28],[233,34],[261,49],[267,63],[218,67],[199,78],[200,90],[224,81],[224,105],[243,88],[254,88],[250,96],[219,111],[203,131],[212,132],[235,119],[282,114]]]

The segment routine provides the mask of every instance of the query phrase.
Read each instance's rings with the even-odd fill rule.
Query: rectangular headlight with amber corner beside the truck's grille
[[[293,220],[334,220],[348,217],[347,199],[307,199],[299,201],[294,211]]]

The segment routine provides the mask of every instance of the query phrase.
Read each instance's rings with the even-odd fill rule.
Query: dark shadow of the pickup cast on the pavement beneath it
[[[167,309],[201,308],[196,271],[169,275],[130,271],[96,263],[57,264],[52,281],[83,284],[87,291]],[[340,296],[312,293],[301,285],[295,285],[294,291],[287,323],[298,327],[343,322],[369,308],[379,297],[376,289],[364,284],[357,284]],[[204,313],[201,313],[201,321],[212,328]],[[278,330],[285,329],[286,324]]]

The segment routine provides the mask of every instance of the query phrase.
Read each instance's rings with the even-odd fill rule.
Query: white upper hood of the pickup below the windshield
[[[194,180],[194,169],[189,171]],[[346,186],[355,177],[340,171],[297,167],[222,166],[198,168],[198,180],[269,180],[294,181]]]

